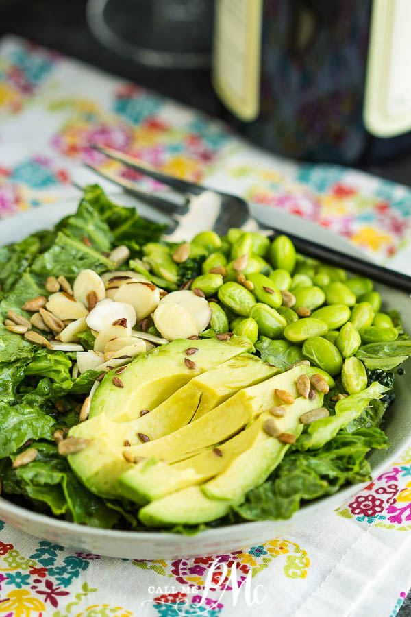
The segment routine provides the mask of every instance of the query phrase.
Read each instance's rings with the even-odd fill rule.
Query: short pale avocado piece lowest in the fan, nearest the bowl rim
[[[208,499],[200,487],[189,486],[142,507],[139,516],[141,522],[148,527],[195,525],[225,516],[230,507],[227,501]]]

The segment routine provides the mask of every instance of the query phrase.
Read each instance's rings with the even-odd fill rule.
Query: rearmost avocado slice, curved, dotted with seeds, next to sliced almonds
[[[184,363],[189,347],[197,347],[195,368]],[[121,373],[123,387],[112,383],[110,371],[95,392],[90,408],[90,418],[104,413],[114,422],[127,422],[140,416],[143,409],[153,409],[186,385],[193,377],[219,366],[242,354],[251,347],[242,337],[231,337],[222,342],[217,339],[187,341],[176,339],[145,354],[137,356]]]

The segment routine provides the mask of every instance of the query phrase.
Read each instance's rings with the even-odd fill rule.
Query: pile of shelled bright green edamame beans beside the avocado
[[[172,252],[161,251],[175,274]],[[187,250],[190,257],[200,254],[203,274],[190,289],[210,302],[208,334],[233,332],[253,344],[259,337],[285,339],[300,346],[313,365],[340,374],[347,394],[367,385],[358,348],[398,336],[390,316],[380,311],[381,295],[372,280],[297,254],[284,235],[270,241],[236,228],[225,237],[202,232]],[[158,263],[157,268],[164,277]]]

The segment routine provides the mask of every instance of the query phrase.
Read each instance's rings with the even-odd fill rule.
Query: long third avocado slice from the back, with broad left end
[[[103,414],[77,424],[71,428],[70,435],[86,437],[91,439],[91,442],[82,452],[69,456],[71,468],[92,492],[105,497],[118,496],[117,478],[134,468],[133,463],[123,458],[123,451],[146,459],[166,459],[168,463],[183,461],[199,454],[238,433],[254,417],[273,404],[282,404],[274,394],[275,388],[285,389],[297,398],[295,380],[308,369],[310,367],[299,365],[262,383],[242,389],[199,420],[179,428],[171,435],[137,446],[124,448],[113,445],[114,423]],[[93,431],[96,438],[93,437]],[[121,431],[121,424],[118,431]]]

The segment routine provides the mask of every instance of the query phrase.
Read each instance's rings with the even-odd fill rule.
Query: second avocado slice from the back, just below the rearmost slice
[[[205,415],[238,390],[277,374],[279,369],[267,366],[256,356],[240,354],[210,371],[193,377],[150,413],[128,422],[101,420],[101,414],[83,422],[75,429],[76,437],[96,439],[110,435],[112,446],[140,444],[138,433],[151,441],[169,435]],[[71,433],[73,434],[73,433]]]

